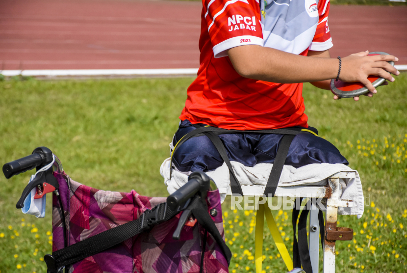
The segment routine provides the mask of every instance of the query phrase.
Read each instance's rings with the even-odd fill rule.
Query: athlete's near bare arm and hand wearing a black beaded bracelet
[[[338,59],[295,55],[257,45],[234,47],[227,54],[234,69],[242,77],[266,82],[326,81],[335,79],[339,68]],[[400,72],[387,61],[396,62],[398,58],[393,55],[367,55],[368,52],[361,52],[343,57],[339,79],[343,82],[361,82],[369,91],[376,93],[367,77],[377,75],[394,82],[394,78],[387,72],[394,75]]]

